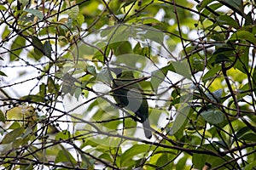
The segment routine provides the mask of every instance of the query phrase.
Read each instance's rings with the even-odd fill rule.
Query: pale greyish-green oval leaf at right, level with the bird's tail
[[[211,124],[218,124],[225,120],[224,113],[218,110],[202,111],[201,116]]]

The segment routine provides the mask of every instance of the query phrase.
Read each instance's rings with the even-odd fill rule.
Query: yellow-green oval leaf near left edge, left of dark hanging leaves
[[[11,45],[10,52],[10,61],[14,61],[17,57],[20,56],[20,53],[25,46],[26,39],[24,37],[16,37],[15,41]]]

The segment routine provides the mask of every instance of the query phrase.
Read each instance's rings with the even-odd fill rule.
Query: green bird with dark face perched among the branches
[[[151,139],[152,133],[148,121],[148,101],[142,94],[142,87],[138,82],[135,82],[136,79],[132,71],[122,71],[120,68],[111,68],[111,71],[116,74],[112,87],[113,99],[119,106],[134,112],[140,118],[146,138]],[[115,88],[117,89],[114,90]]]

